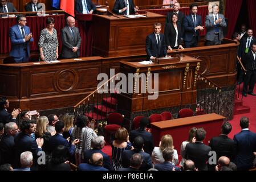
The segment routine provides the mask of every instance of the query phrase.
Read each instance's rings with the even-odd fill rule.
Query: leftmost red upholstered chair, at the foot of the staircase
[[[107,121],[108,125],[104,127],[106,141],[109,142],[109,135],[113,135],[121,127],[124,117],[120,113],[110,113]]]

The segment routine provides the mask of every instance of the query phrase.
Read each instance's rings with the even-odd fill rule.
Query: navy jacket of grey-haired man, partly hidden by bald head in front
[[[84,151],[84,160],[83,163],[89,163],[89,159],[91,159],[92,154],[100,153],[103,155],[103,167],[108,169],[109,171],[115,171],[113,168],[113,164],[107,154],[99,149],[92,149]]]

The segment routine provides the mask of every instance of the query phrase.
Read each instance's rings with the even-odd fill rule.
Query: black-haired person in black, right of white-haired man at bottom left
[[[62,145],[57,146],[52,151],[52,157],[48,162],[48,171],[71,171],[68,161],[68,148]]]

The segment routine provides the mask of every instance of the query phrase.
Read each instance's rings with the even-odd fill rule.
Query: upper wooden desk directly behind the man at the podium
[[[112,57],[145,53],[146,38],[153,32],[153,24],[162,23],[164,30],[166,17],[156,13],[145,15],[145,18],[95,15],[94,54]]]

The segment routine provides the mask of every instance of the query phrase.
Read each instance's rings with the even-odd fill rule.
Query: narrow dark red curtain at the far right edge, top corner
[[[247,10],[249,16],[249,27],[253,29],[254,35],[256,35],[256,1],[247,0]]]

